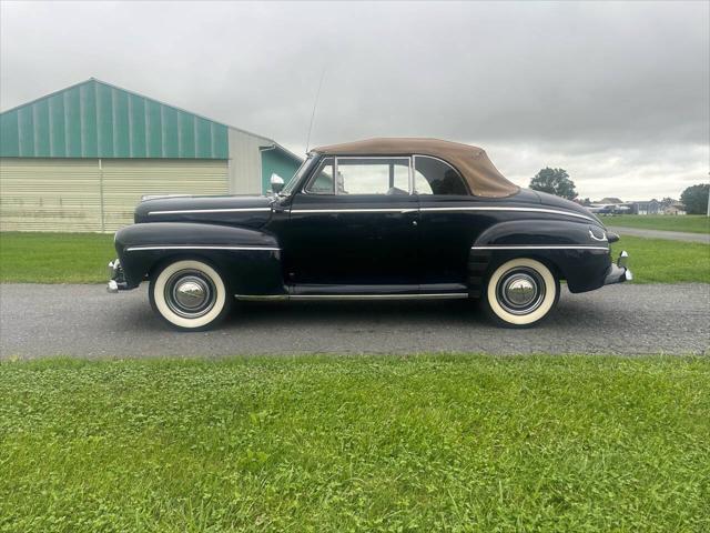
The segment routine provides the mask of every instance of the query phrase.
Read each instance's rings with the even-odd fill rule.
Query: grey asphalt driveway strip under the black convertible
[[[564,291],[531,330],[490,326],[467,301],[244,303],[217,330],[181,333],[145,286],[0,285],[0,358],[221,356],[328,352],[710,353],[710,285]]]

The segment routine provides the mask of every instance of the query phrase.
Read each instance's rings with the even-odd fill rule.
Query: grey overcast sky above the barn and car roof
[[[436,137],[527,185],[708,181],[710,3],[0,3],[0,109],[90,77],[311,145]]]

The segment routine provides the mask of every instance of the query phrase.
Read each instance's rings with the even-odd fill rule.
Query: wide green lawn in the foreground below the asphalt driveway
[[[0,531],[710,531],[710,359],[0,363]]]

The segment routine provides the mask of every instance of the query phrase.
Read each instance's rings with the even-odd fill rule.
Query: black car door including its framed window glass
[[[287,279],[296,292],[416,292],[417,207],[410,158],[325,158],[291,205]]]

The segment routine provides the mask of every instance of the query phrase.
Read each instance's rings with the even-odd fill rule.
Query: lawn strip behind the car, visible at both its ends
[[[622,237],[639,283],[710,283],[710,247],[700,243]],[[113,237],[95,233],[0,233],[0,281],[102,283],[115,258]]]

